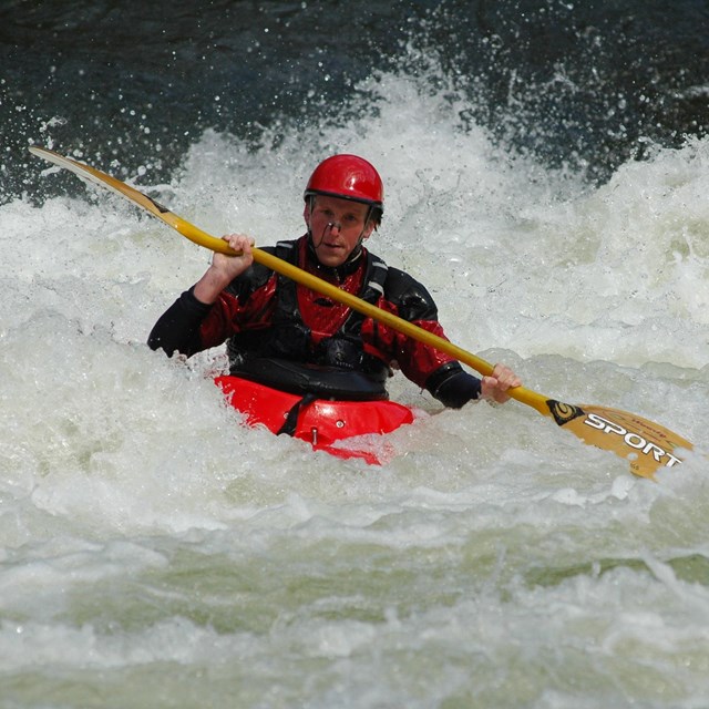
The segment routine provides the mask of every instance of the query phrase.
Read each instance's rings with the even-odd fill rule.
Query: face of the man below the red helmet
[[[374,228],[373,222],[364,224],[369,206],[338,197],[317,195],[306,203],[306,224],[312,234],[312,245],[318,260],[323,266],[341,266],[354,250],[360,237],[368,238]]]

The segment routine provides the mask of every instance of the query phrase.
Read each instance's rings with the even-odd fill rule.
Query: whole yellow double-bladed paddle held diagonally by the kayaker
[[[60,167],[70,169],[84,181],[95,183],[101,187],[115,192],[122,197],[131,199],[153,216],[173,227],[173,229],[179,232],[179,234],[191,242],[212,249],[213,251],[236,255],[223,239],[210,236],[206,232],[185,222],[173,214],[167,207],[164,207],[142,192],[122,183],[115,177],[111,177],[111,175],[106,175],[94,167],[78,163],[42,147],[32,146],[30,147],[30,152]],[[258,264],[263,264],[267,268],[311,290],[322,294],[332,300],[342,302],[373,320],[388,325],[408,337],[434,347],[472,367],[483,376],[492,374],[492,364],[452,342],[408,320],[403,320],[391,312],[387,312],[377,306],[366,302],[345,290],[340,290],[336,286],[267,251],[254,247],[253,253],[254,260]],[[508,393],[521,403],[532,407],[545,417],[552,418],[557,425],[576,434],[584,443],[595,445],[606,451],[613,451],[620,458],[628,460],[630,471],[636,475],[653,477],[659,467],[672,467],[681,463],[679,455],[675,454],[676,449],[692,449],[691,443],[677,433],[634,413],[628,413],[627,411],[598,405],[564,403],[525,389],[524,387],[515,387],[511,389]]]

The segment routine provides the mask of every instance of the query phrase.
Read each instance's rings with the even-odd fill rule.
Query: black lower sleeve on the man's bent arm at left
[[[172,357],[175,351],[191,357],[203,349],[199,326],[212,306],[199,302],[193,288],[183,292],[155,323],[147,338],[147,346],[152,350],[162,348],[167,357]]]

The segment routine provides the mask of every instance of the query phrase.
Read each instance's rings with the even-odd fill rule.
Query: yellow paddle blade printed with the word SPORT
[[[630,472],[641,477],[653,479],[660,467],[681,463],[676,450],[692,449],[687,439],[636,413],[554,400],[549,400],[548,404],[558,425],[584,443],[612,451],[627,460]]]

